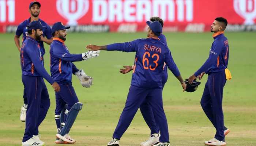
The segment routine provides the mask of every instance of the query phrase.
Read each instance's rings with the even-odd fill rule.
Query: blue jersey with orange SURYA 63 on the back
[[[131,85],[139,88],[163,88],[163,66],[172,71],[174,76],[180,72],[173,61],[167,45],[159,38],[136,39],[125,43],[107,45],[108,51],[136,52]]]

